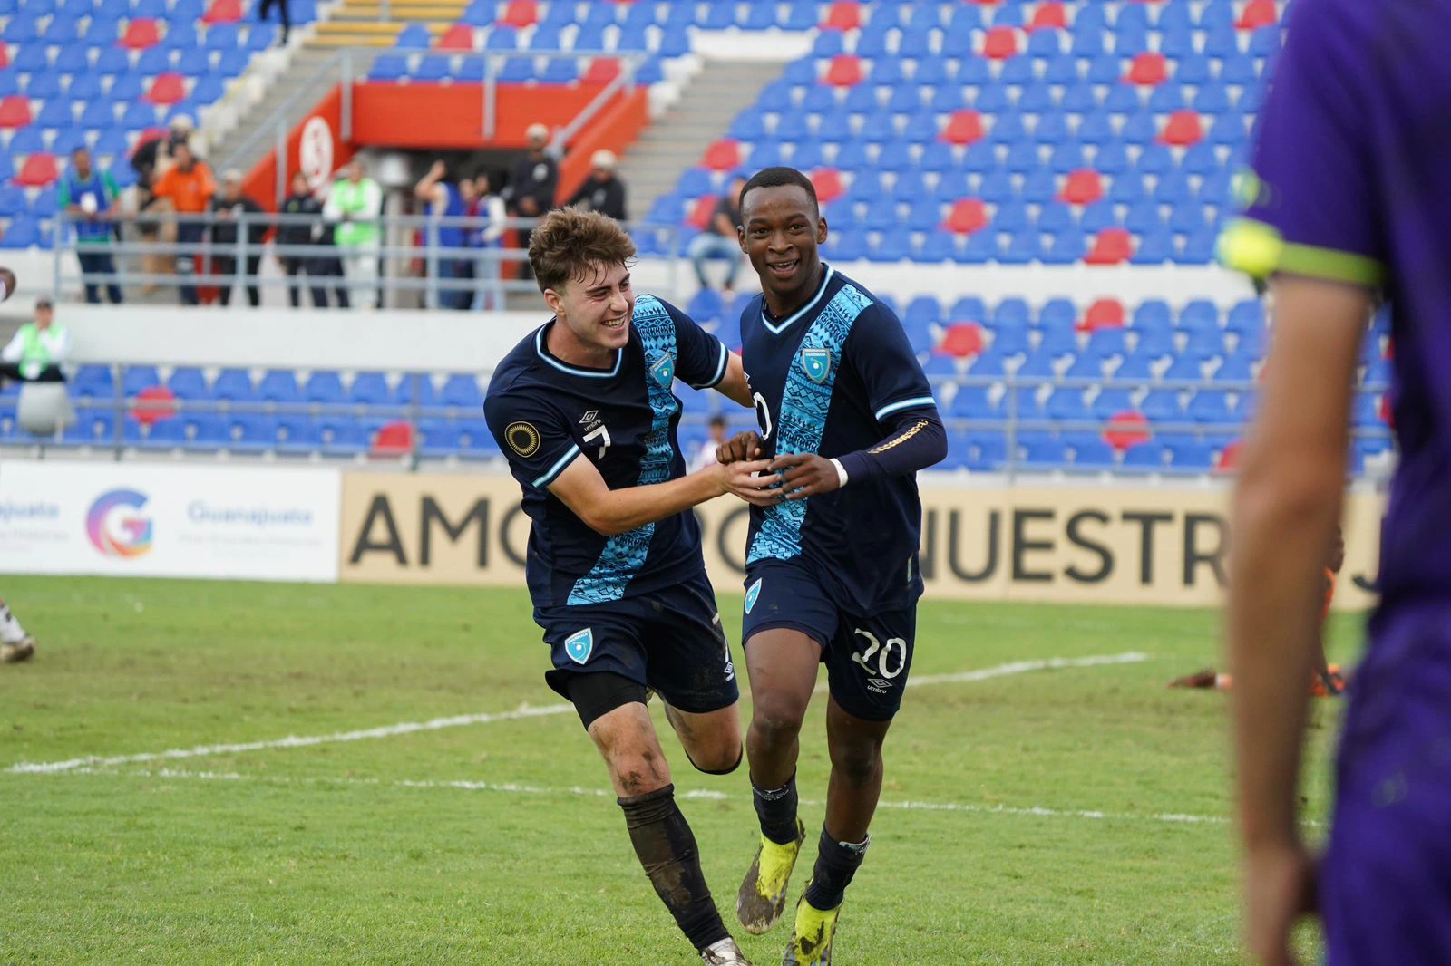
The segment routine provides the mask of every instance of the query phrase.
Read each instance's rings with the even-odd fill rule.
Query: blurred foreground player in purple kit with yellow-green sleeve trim
[[[1229,648],[1246,936],[1290,963],[1451,963],[1451,1],[1296,0],[1228,264],[1273,276],[1271,361],[1235,495]],[[1355,355],[1392,306],[1400,467],[1351,685],[1335,821],[1294,817],[1315,580],[1339,516]]]

